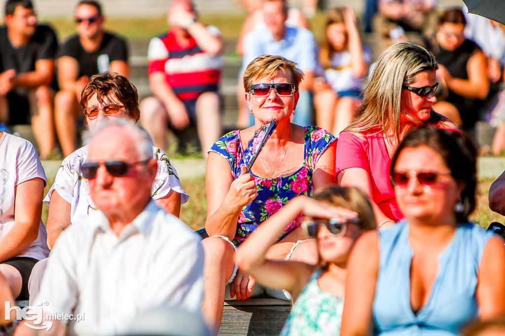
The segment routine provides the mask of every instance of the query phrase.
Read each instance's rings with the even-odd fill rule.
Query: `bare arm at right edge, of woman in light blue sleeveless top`
[[[488,320],[505,314],[505,242],[493,237],[484,248],[477,285],[480,319]]]

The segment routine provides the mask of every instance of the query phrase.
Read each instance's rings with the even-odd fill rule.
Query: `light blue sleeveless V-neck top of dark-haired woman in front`
[[[478,316],[477,273],[491,232],[474,223],[456,230],[438,257],[437,275],[426,304],[414,314],[410,304],[410,268],[414,251],[409,223],[379,231],[380,261],[373,304],[374,334],[456,335]]]

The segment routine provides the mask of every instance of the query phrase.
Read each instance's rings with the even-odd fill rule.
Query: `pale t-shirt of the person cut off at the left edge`
[[[20,137],[3,133],[0,138],[0,241],[14,228],[15,187],[23,182],[40,178],[47,183],[44,169],[33,145]],[[38,236],[18,257],[37,260],[47,257],[47,234],[40,219]]]

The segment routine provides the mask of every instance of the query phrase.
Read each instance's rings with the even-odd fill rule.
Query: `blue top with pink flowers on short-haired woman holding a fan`
[[[233,244],[240,245],[247,236],[265,219],[277,212],[290,199],[298,195],[312,196],[312,174],[317,161],[336,138],[322,128],[305,128],[304,164],[293,174],[275,179],[265,179],[251,173],[258,186],[258,196],[244,206],[238,216],[237,231]],[[240,175],[240,166],[244,165],[239,131],[233,131],[216,141],[211,150],[223,156],[230,164],[233,178]],[[300,226],[300,214],[284,229],[280,239]]]

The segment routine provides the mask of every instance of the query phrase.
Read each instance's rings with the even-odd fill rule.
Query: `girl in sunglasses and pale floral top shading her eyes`
[[[358,188],[325,187],[314,198],[300,196],[291,200],[237,251],[239,267],[264,286],[288,291],[295,301],[282,335],[340,333],[349,252],[363,232],[376,227],[372,206]],[[300,213],[310,218],[303,226],[316,241],[308,240],[298,246],[317,243],[319,264],[268,260],[268,250]]]

